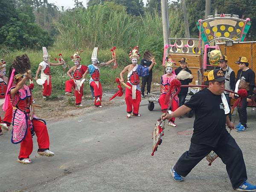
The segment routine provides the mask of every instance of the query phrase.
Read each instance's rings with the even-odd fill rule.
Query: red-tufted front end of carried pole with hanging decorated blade
[[[180,81],[177,79],[172,80],[169,91],[166,94],[166,99],[165,103],[169,103],[168,109],[166,110],[165,115],[168,113],[172,106],[172,100],[175,98],[175,96],[180,93]],[[162,137],[164,135],[163,130],[164,130],[164,125],[165,125],[165,120],[159,118],[155,124],[154,130],[152,131],[152,140],[153,140],[153,147],[152,147],[152,153],[151,156],[154,156],[154,152],[157,151],[158,145],[161,145],[162,143]]]

